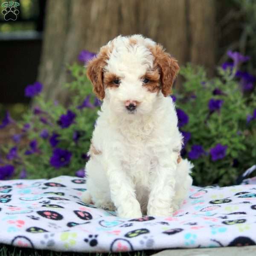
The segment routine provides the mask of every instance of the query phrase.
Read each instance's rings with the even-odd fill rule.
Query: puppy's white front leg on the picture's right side
[[[172,200],[175,196],[177,153],[161,154],[151,184],[148,199],[148,215],[170,216],[173,214]]]

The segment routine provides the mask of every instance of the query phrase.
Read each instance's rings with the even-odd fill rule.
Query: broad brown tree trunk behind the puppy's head
[[[48,0],[38,80],[47,99],[67,102],[66,65],[82,49],[97,52],[119,34],[163,44],[180,64],[215,63],[214,0]],[[58,14],[58,15],[57,15]],[[180,83],[178,83],[180,84]]]

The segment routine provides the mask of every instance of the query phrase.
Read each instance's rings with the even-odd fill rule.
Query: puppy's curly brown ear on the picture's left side
[[[108,59],[108,47],[102,47],[99,54],[90,60],[87,64],[87,77],[93,83],[93,92],[98,99],[105,97],[105,88],[103,84],[103,68]]]

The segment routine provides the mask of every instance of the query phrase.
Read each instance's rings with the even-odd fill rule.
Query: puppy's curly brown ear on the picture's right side
[[[152,47],[151,52],[155,57],[154,65],[160,69],[161,90],[166,97],[172,93],[172,85],[180,67],[177,60],[165,52],[160,44]]]

